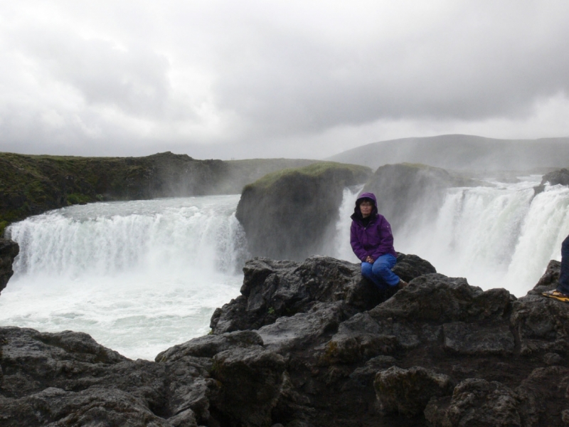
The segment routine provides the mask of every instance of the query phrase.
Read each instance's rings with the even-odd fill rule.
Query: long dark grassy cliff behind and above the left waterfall
[[[0,153],[0,234],[13,221],[70,204],[102,200],[238,194],[245,184],[314,160],[196,160],[171,152],[148,157],[61,157]]]

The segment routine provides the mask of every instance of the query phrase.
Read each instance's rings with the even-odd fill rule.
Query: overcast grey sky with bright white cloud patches
[[[566,0],[0,0],[0,151],[569,136]]]

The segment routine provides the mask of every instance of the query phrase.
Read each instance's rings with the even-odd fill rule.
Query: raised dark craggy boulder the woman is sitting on
[[[402,264],[398,266],[399,262]],[[435,270],[417,255],[398,255],[407,280]],[[346,302],[353,313],[368,310],[385,299],[375,285],[361,278],[359,264],[314,255],[303,263],[253,258],[245,263],[241,294],[211,317],[215,334],[255,330],[277,318],[308,312],[317,302]]]

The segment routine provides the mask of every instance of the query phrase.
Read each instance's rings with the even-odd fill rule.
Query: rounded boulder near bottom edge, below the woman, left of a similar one
[[[422,367],[390,367],[378,372],[373,386],[383,411],[415,416],[432,397],[450,395],[454,384],[449,376]]]

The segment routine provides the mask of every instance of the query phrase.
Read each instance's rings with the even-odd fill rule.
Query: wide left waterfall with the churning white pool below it
[[[13,224],[21,252],[0,325],[87,332],[134,359],[206,334],[243,281],[238,200],[88,204]]]

